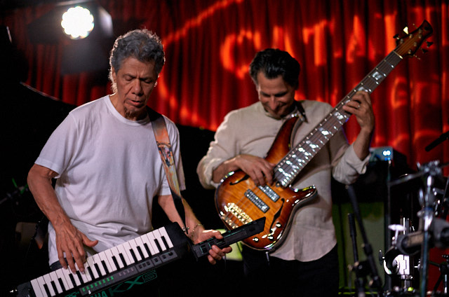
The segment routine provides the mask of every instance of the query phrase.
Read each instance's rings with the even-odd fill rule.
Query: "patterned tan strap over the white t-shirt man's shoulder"
[[[185,226],[185,209],[182,204],[180,185],[177,180],[175,160],[173,159],[173,151],[171,149],[170,139],[168,138],[168,131],[166,127],[166,121],[163,119],[160,113],[150,109],[147,106],[149,119],[152,121],[152,128],[154,132],[154,138],[156,139],[159,156],[161,156],[163,170],[166,172],[168,185],[170,186],[170,192],[175,203],[177,213],[182,219],[182,223]],[[187,233],[187,228],[185,232]]]

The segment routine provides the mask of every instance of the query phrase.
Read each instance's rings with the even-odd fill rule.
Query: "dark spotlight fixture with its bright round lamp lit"
[[[81,20],[88,20],[88,24],[81,25]],[[109,50],[114,44],[113,31],[111,15],[102,6],[88,0],[62,1],[27,25],[32,43],[62,46],[62,75],[107,71]]]

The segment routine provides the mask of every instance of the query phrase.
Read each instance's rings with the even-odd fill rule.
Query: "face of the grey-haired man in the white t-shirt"
[[[112,104],[129,120],[141,120],[147,115],[149,95],[157,81],[154,61],[140,62],[135,57],[123,60],[119,71],[112,69],[117,92],[111,95]]]

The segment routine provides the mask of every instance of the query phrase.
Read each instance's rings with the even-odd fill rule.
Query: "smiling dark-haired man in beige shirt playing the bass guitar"
[[[300,118],[292,133],[291,144],[295,146],[332,110],[327,103],[295,100],[300,64],[285,51],[260,51],[250,63],[249,72],[259,101],[231,111],[218,127],[215,140],[197,167],[205,188],[220,187],[220,181],[235,171],[246,173],[256,188],[276,183],[276,164],[266,157],[283,123],[292,116]],[[292,212],[290,230],[276,249],[260,251],[243,246],[245,284],[253,296],[337,295],[337,240],[330,181],[334,177],[351,184],[366,171],[375,127],[368,92],[356,92],[342,109],[356,116],[360,125],[354,143],[348,144],[343,130],[338,129],[291,183],[297,189],[315,186],[316,197]]]

